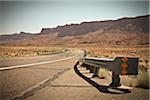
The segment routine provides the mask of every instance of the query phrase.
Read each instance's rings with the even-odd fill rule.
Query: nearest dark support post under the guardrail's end
[[[119,74],[112,72],[112,83],[109,86],[110,87],[121,86]]]

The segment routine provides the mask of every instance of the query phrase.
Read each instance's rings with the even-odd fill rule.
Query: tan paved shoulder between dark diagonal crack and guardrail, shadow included
[[[79,77],[80,76],[80,77]],[[110,88],[109,77],[91,78],[83,67],[74,67],[25,100],[149,100],[149,90],[122,85]]]

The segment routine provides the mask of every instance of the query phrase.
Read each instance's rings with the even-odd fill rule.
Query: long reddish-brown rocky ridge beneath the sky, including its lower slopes
[[[148,45],[149,15],[1,35],[0,45]]]

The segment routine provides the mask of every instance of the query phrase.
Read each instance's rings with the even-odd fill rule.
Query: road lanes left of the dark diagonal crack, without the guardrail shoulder
[[[17,99],[17,96],[40,89],[72,68],[82,55],[83,51],[72,49],[49,56],[0,58],[0,100]],[[22,65],[27,66],[18,68]],[[3,70],[8,67],[15,69]]]

